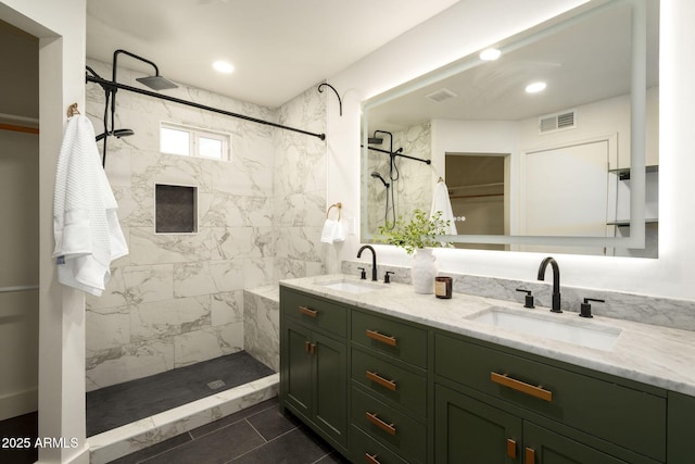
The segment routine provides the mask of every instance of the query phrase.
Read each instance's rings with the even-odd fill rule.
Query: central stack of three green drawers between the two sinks
[[[356,309],[350,326],[352,460],[429,462],[428,329]]]

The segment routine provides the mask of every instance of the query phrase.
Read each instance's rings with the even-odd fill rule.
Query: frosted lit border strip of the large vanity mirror
[[[628,237],[581,237],[581,236],[509,236],[509,235],[447,235],[442,236],[443,241],[456,243],[485,243],[485,244],[543,244],[543,246],[572,246],[572,247],[609,247],[620,249],[644,249],[646,241],[646,220],[645,220],[645,195],[646,195],[646,47],[647,47],[647,0],[622,0],[616,1],[614,4],[628,3],[632,8],[632,83],[630,95],[630,236]],[[567,27],[576,21],[583,21],[586,16],[597,14],[604,8],[609,8],[610,3],[601,2],[601,4],[584,10],[563,21],[543,27],[541,30],[522,37],[520,40],[514,40],[509,45],[503,47],[505,50],[513,50],[523,47],[534,40],[545,37],[554,33],[558,27]],[[563,17],[560,15],[558,17]],[[556,18],[557,20],[557,18]],[[551,21],[553,22],[553,21]],[[484,50],[486,47],[483,47]],[[434,70],[420,77],[416,77],[412,81],[405,83],[391,90],[387,90],[376,97],[372,97],[362,103],[362,156],[361,172],[368,170],[368,148],[367,139],[369,137],[368,111],[374,106],[386,103],[390,100],[402,97],[418,88],[428,86],[454,74],[472,68],[482,63],[478,57],[478,52],[469,54],[453,64],[445,65],[439,70]],[[641,91],[635,91],[640,89]],[[434,180],[433,180],[434,181]],[[363,179],[364,183],[364,179]],[[374,242],[375,236],[368,230],[367,224],[367,189],[361,186],[361,241]],[[641,201],[639,201],[640,199]]]

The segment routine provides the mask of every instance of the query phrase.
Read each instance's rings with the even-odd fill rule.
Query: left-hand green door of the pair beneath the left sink
[[[306,417],[311,417],[313,402],[311,330],[302,325],[286,322],[283,335],[286,401]]]

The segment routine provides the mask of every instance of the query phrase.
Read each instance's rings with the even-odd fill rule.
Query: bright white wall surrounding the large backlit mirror
[[[359,216],[361,101],[581,3],[462,1],[331,77],[329,81],[344,92],[344,99],[341,118],[337,104],[329,100],[328,201],[342,201],[345,217]],[[695,3],[691,1],[661,2],[659,259],[556,255],[565,285],[695,299],[694,192],[690,187],[695,131],[688,127],[690,108],[695,102],[695,58],[688,52],[695,41],[694,17]],[[339,258],[354,260],[357,248],[358,237],[349,236]],[[381,263],[409,263],[402,250],[386,246],[377,250]],[[438,250],[437,255],[441,271],[523,280],[535,278],[543,258],[475,250]]]

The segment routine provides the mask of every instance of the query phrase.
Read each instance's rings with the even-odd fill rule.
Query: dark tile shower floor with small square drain
[[[229,388],[274,371],[245,351],[87,393],[87,436],[101,434]],[[223,380],[224,387],[207,384]]]

